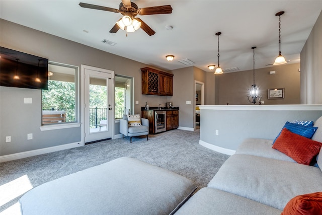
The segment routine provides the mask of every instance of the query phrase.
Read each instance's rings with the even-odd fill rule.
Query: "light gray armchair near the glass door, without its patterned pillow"
[[[132,143],[132,136],[141,136],[146,135],[146,140],[148,140],[147,135],[149,134],[149,120],[141,118],[140,126],[129,126],[127,121],[127,115],[123,115],[123,118],[120,119],[120,133],[122,137],[130,137],[130,142]]]

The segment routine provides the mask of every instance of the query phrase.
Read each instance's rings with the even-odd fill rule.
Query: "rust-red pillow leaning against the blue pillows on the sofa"
[[[309,165],[313,157],[319,153],[321,146],[322,142],[311,140],[283,128],[272,148],[291,157],[299,164]]]

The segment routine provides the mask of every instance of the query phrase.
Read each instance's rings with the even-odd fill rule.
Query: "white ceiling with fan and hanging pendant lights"
[[[43,0],[0,1],[0,17],[33,29],[82,43],[165,70],[188,67],[178,60],[188,58],[205,71],[218,63],[239,70],[263,68],[278,55],[278,17],[281,16],[281,51],[289,63],[299,62],[300,51],[322,9],[322,1],[185,1],[133,0],[138,8],[171,5],[172,14],[139,16],[156,33],[148,36],[119,30],[109,33],[122,15],[78,6],[79,2],[118,9],[121,1]],[[166,30],[166,26],[173,30]],[[86,33],[85,31],[88,31]],[[115,42],[110,46],[101,41]],[[167,54],[175,55],[171,62]],[[50,59],[49,59],[50,60]],[[271,66],[271,65],[270,65]]]

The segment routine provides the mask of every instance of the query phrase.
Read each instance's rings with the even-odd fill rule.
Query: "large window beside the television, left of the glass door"
[[[78,122],[78,67],[49,62],[48,90],[42,90],[42,125]]]

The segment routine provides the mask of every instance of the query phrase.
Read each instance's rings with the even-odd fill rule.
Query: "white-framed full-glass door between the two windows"
[[[84,142],[114,136],[114,71],[82,65]]]

